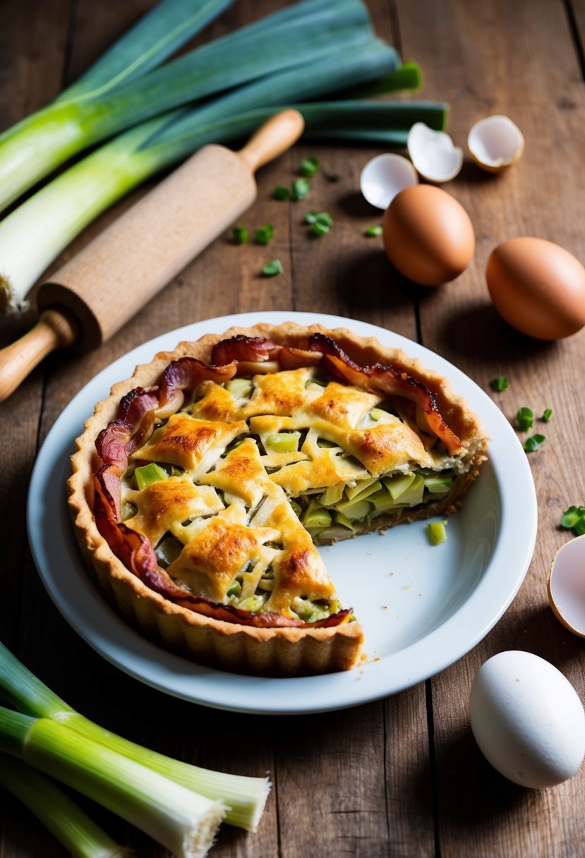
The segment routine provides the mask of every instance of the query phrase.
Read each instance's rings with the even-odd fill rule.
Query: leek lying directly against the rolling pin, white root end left
[[[354,69],[361,56],[357,52]],[[366,57],[366,61],[377,62],[379,68],[380,63],[387,61],[383,47],[378,44],[377,51]],[[266,106],[264,102],[273,102],[275,96],[266,94],[259,82],[240,91],[243,102],[246,99],[255,109],[239,111],[228,96],[190,112],[178,110],[150,120],[114,138],[63,172],[0,222],[0,311],[23,305],[28,290],[69,242],[131,188],[205,143],[230,142],[249,135],[281,107],[293,103],[304,115],[305,134],[329,140],[352,140],[359,134],[360,139],[371,142],[380,139],[405,143],[414,122],[425,122],[436,130],[443,128],[447,106],[441,103],[318,101],[296,104],[295,88],[297,98],[302,99],[321,94],[322,86],[337,87],[347,69],[347,61],[340,67],[334,56],[330,68],[329,79],[321,79],[319,83],[319,76],[314,73],[314,80],[305,78],[298,88],[294,70],[270,76],[274,94],[285,99],[290,96],[288,102]],[[305,75],[305,67],[298,70]]]

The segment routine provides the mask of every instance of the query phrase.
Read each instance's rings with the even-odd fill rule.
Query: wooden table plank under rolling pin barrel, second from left
[[[238,3],[236,8],[237,12],[235,9],[230,12],[231,26],[240,26],[244,21],[264,14],[269,8],[274,8],[274,3]],[[81,27],[82,21],[86,21],[87,30]],[[92,17],[89,12],[82,21],[76,21],[74,57],[83,53],[78,45],[91,43]],[[109,19],[108,33],[113,33],[117,26],[114,14]],[[225,29],[226,21],[222,17],[221,21],[215,22],[209,28],[209,32],[219,35]],[[81,66],[83,64],[81,63]],[[263,168],[259,176],[261,185],[263,181],[266,188],[270,189],[273,182],[273,178],[269,176],[271,169],[272,166]],[[50,270],[56,269],[85,246],[153,184],[154,182],[145,184],[102,215],[69,246]],[[278,251],[285,263],[286,211],[281,208],[274,211],[274,201],[270,196],[271,193],[261,187],[258,201],[250,215],[245,215],[245,220],[250,226],[250,233],[254,227],[260,226],[268,219],[274,222],[274,251]],[[153,240],[156,240],[155,236]],[[273,252],[273,248],[270,252]],[[41,438],[45,438],[64,405],[69,402],[71,396],[75,396],[83,384],[112,360],[116,360],[139,343],[197,319],[238,311],[270,309],[280,306],[279,302],[282,301],[286,305],[290,301],[290,274],[275,278],[274,281],[262,279],[260,271],[265,254],[265,248],[253,243],[244,248],[233,245],[231,234],[226,233],[226,236],[218,239],[184,269],[163,293],[149,302],[104,347],[81,356],[70,353],[52,355],[46,362],[47,393],[44,420],[40,429]],[[290,272],[290,266],[286,268]],[[259,306],[260,290],[262,302]],[[41,656],[37,650],[36,653],[30,651],[28,655],[45,681],[50,685],[52,683],[59,693],[63,693],[63,697],[84,714],[143,745],[195,764],[257,776],[263,776],[273,770],[272,730],[269,719],[207,710],[168,698],[135,680],[129,680],[96,656],[85,644],[78,643],[75,633],[58,616],[55,609],[47,605],[46,597],[36,591],[34,579],[35,573],[31,569],[30,586],[34,598],[27,620],[31,649],[40,626],[46,629],[47,634],[51,633],[51,653]],[[75,686],[75,699],[71,699],[74,690],[69,681],[63,681],[62,676],[60,679],[58,668],[58,654],[72,652],[75,653],[77,674],[80,677]],[[95,688],[107,689],[107,694],[101,698],[95,694]],[[144,712],[148,713],[148,717],[137,716],[137,713]],[[162,725],[160,730],[154,731],[154,724]],[[194,725],[193,728],[191,725]],[[113,819],[110,814],[106,815],[103,824],[106,825],[106,822],[109,825],[108,830],[112,831],[114,836],[123,843],[132,843],[141,855],[166,855],[166,850],[160,849],[130,826]],[[275,791],[268,801],[260,830],[256,834],[250,834],[224,826],[214,847],[214,854],[218,855],[218,858],[252,858],[256,855],[278,854]]]

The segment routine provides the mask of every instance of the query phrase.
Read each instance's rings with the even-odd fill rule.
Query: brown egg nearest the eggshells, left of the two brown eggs
[[[384,212],[383,239],[390,262],[423,286],[455,280],[475,251],[465,208],[431,184],[415,184],[395,196]]]

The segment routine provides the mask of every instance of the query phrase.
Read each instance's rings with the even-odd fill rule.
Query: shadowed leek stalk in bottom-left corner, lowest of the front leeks
[[[57,784],[21,760],[0,758],[0,784],[28,807],[73,858],[129,858]]]

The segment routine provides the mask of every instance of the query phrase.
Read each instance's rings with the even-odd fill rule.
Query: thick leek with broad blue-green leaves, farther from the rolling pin
[[[174,3],[166,0],[162,8]],[[226,4],[215,0],[210,6],[199,0],[199,22],[208,21],[212,11],[218,14]],[[137,56],[136,49],[130,51],[129,44],[124,66],[122,44],[117,63],[105,63],[101,73],[94,67],[49,106],[0,135],[0,210],[81,149],[120,130],[274,71],[319,63],[338,51],[351,53],[354,46],[371,39],[370,18],[361,0],[301,0],[147,74],[140,72],[148,69],[148,58]],[[132,39],[130,46],[136,48]],[[393,61],[384,74],[400,64],[395,51],[388,51]]]

